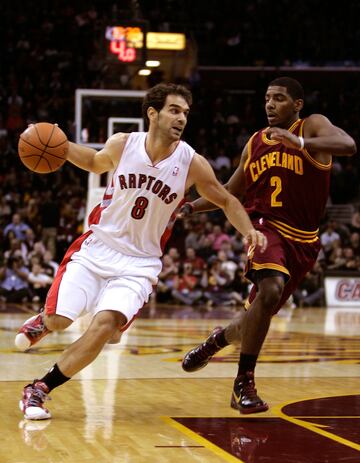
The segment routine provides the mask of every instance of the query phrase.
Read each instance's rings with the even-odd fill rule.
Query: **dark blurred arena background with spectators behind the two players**
[[[264,90],[280,74],[304,84],[303,116],[327,115],[359,146],[360,3],[350,0],[346,8],[338,3],[329,9],[314,1],[311,14],[308,8],[298,3],[294,14],[287,0],[225,0],[220,9],[214,0],[5,2],[0,23],[1,301],[41,303],[66,248],[83,231],[87,174],[70,165],[34,174],[17,156],[19,134],[29,123],[57,122],[75,139],[77,88],[146,89],[165,80],[187,85],[194,104],[184,138],[224,182],[249,136],[266,125]],[[159,69],[139,81],[130,78],[129,67],[106,59],[106,26],[144,18],[153,31],[186,34],[193,49],[187,72]],[[90,111],[92,126],[101,125],[103,116]],[[96,133],[95,141],[99,137]],[[334,160],[320,230],[323,249],[291,304],[323,305],[325,273],[360,272],[358,178],[358,156]],[[222,213],[178,221],[156,298],[209,308],[242,304],[249,290],[245,258],[241,237]]]

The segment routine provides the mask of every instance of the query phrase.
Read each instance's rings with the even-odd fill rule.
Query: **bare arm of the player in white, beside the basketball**
[[[70,142],[67,160],[88,172],[108,172],[118,165],[127,137],[127,134],[116,133],[107,140],[100,151]]]

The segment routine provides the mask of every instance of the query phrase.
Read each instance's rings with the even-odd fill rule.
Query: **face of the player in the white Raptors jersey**
[[[168,95],[159,112],[158,128],[173,141],[179,140],[189,115],[189,105],[180,95]]]

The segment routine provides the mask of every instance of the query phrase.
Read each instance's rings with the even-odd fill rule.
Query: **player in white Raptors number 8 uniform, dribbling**
[[[68,161],[89,172],[114,174],[89,217],[90,230],[66,252],[44,312],[24,323],[15,343],[27,350],[84,311],[92,321],[43,378],[25,386],[20,401],[25,418],[50,418],[44,406],[49,392],[91,363],[105,343],[119,340],[148,301],[163,248],[192,185],[224,210],[249,245],[265,249],[264,235],[253,228],[240,202],[220,185],[205,158],[180,140],[191,102],[185,87],[159,84],[143,101],[148,132],[117,133],[99,152],[70,143]]]

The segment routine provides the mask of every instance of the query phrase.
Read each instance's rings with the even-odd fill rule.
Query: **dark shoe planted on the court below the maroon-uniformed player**
[[[245,375],[235,378],[230,406],[243,414],[265,412],[269,409],[268,404],[257,395],[253,371],[247,371]]]

